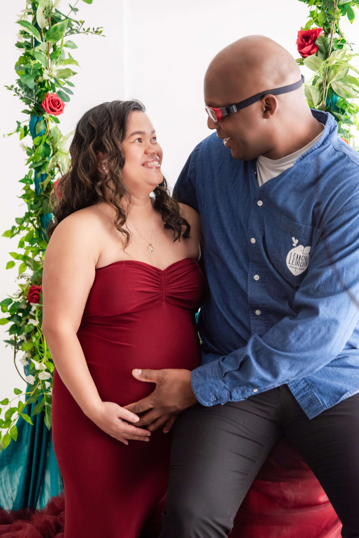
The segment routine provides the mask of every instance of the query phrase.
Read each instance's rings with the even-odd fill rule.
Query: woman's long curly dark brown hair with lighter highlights
[[[145,112],[144,105],[136,99],[110,101],[91,108],[80,118],[69,148],[71,165],[50,195],[54,220],[47,227],[49,238],[68,215],[98,202],[107,202],[115,209],[114,224],[125,236],[124,247],[129,244],[130,233],[123,225],[128,213],[124,207],[129,208],[131,196],[121,180],[125,164],[121,143],[126,136],[128,117],[135,110]],[[105,178],[101,178],[97,168],[98,151],[106,155],[109,173]],[[109,185],[111,180],[114,187]],[[110,189],[108,198],[104,196],[105,187]],[[160,211],[164,227],[172,230],[173,241],[189,237],[191,226],[181,216],[179,203],[170,195],[165,178],[153,193],[154,209]]]

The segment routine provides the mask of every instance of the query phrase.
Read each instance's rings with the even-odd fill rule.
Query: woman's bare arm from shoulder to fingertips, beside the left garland
[[[149,440],[149,431],[124,422],[137,422],[137,415],[101,400],[76,336],[95,278],[100,235],[100,220],[86,210],[55,228],[44,259],[43,331],[59,376],[83,413],[128,444],[128,439]]]

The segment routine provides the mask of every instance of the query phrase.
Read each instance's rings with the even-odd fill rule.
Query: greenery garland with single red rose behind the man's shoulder
[[[350,60],[351,43],[340,29],[341,16],[354,22],[359,0],[299,0],[309,6],[309,20],[299,32],[299,65],[306,65],[314,75],[305,83],[305,95],[309,107],[326,110],[338,124],[338,134],[356,149],[355,135],[350,132],[354,125],[359,130],[357,113],[359,107],[353,102],[359,93],[359,79],[349,74],[359,71]],[[316,26],[312,28],[312,26]]]

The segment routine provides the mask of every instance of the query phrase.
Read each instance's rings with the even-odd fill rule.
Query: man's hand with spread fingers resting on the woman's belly
[[[165,425],[163,430],[170,431],[176,415],[198,403],[192,390],[190,370],[132,370],[132,375],[139,381],[156,383],[147,398],[124,407],[132,413],[144,413],[136,422],[137,427],[147,426],[154,431]]]

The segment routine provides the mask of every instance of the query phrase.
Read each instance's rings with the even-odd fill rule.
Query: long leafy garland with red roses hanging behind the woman
[[[20,143],[29,166],[29,172],[20,179],[23,183],[20,198],[26,203],[27,211],[23,217],[15,218],[16,225],[3,233],[4,237],[20,236],[20,252],[10,252],[10,256],[19,261],[19,290],[0,302],[2,312],[7,314],[0,319],[0,324],[11,323],[10,338],[4,342],[13,347],[14,362],[17,353],[23,352],[20,363],[24,366],[25,379],[17,371],[27,381],[27,389],[23,392],[15,388],[14,398],[0,402],[5,406],[0,408],[0,413],[6,409],[4,419],[0,419],[0,449],[6,449],[11,440],[17,440],[19,417],[32,424],[31,417],[23,413],[27,404],[38,402],[32,415],[44,412],[46,427],[51,428],[54,364],[41,329],[41,283],[48,243],[46,229],[52,220],[49,195],[53,188],[56,190],[58,179],[69,164],[67,142],[72,133],[62,135],[58,116],[73,95],[74,84],[70,79],[76,72],[68,66],[79,66],[79,63],[70,53],[77,46],[67,38],[74,34],[102,34],[102,27],[86,28],[84,20],[73,18],[79,11],[76,8],[79,0],[73,6],[69,4],[68,15],[58,9],[59,0],[25,2],[26,8],[16,21],[20,26],[16,47],[21,51],[15,65],[18,78],[16,84],[5,87],[25,103],[22,112],[28,116],[22,122],[17,121],[17,128],[8,136],[18,133],[20,140],[29,135],[32,138],[32,143]],[[83,2],[91,4],[92,0]],[[6,269],[15,264],[9,261]],[[24,273],[27,267],[31,275]],[[17,369],[16,363],[15,366]]]

